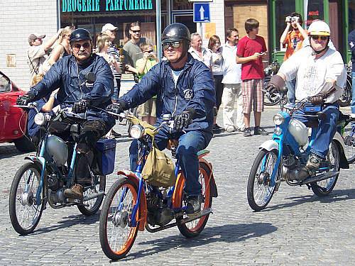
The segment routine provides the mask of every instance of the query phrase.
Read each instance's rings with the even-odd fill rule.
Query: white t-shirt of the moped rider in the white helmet
[[[346,82],[346,71],[342,55],[336,50],[328,49],[320,58],[315,59],[312,48],[305,47],[288,58],[281,65],[279,72],[285,74],[286,80],[296,79],[296,99],[307,96],[326,94],[322,92],[326,79],[336,80],[337,91],[327,97],[327,103],[334,103],[342,96]]]

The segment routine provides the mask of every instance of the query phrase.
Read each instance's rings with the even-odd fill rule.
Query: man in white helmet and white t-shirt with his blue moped
[[[314,21],[308,33],[310,45],[286,60],[266,86],[269,93],[282,93],[285,81],[296,78],[295,94],[299,103],[289,113],[281,111],[274,116],[273,140],[261,145],[261,153],[265,154],[258,155],[251,169],[248,200],[256,211],[266,207],[281,177],[290,185],[307,184],[315,194],[323,196],[334,188],[339,167],[349,167],[347,163],[342,164],[344,141],[336,135],[337,99],[346,82],[344,62],[339,52],[329,49],[327,23]],[[310,138],[306,126],[312,128]],[[275,155],[272,167],[268,165],[273,161],[268,152]],[[261,167],[257,169],[259,164]],[[327,184],[318,184],[324,179]],[[263,189],[266,189],[265,196],[261,196]]]

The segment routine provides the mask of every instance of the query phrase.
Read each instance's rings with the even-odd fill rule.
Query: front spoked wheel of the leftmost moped
[[[40,200],[36,194],[40,185],[40,168],[33,162],[20,167],[13,178],[9,211],[13,229],[20,235],[32,233],[40,221],[43,211],[42,192]]]

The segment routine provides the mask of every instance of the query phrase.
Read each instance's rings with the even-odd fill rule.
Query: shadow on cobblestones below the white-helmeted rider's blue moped
[[[285,203],[285,204],[278,204],[278,205],[273,205],[273,206],[267,206],[264,211],[274,211],[277,209],[283,209],[283,208],[289,208],[293,206],[297,206],[300,204],[305,204],[305,203],[310,203],[310,202],[315,202],[319,201],[321,203],[332,203],[336,201],[346,201],[346,200],[351,200],[355,199],[355,189],[336,189],[333,190],[331,194],[328,196],[316,196],[315,194],[313,195],[307,195],[307,196],[292,196],[289,198],[290,202]]]

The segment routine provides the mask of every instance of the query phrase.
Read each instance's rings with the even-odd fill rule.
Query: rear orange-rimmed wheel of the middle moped
[[[201,210],[204,210],[204,209],[209,209],[212,206],[212,193],[211,193],[211,185],[209,182],[211,171],[209,170],[209,167],[207,167],[203,163],[200,163],[199,172],[200,172],[199,181],[200,184],[202,184],[202,199],[203,199],[201,204]],[[182,204],[183,203],[181,203],[181,206]],[[176,219],[178,222],[178,228],[180,230],[180,233],[182,233],[182,235],[184,235],[187,238],[193,238],[202,232],[204,226],[206,226],[206,223],[208,221],[209,214],[202,216],[201,218],[198,218],[194,221],[190,221],[190,223],[184,223],[184,224],[179,223],[179,221],[181,221],[182,218],[187,218],[187,215],[184,214],[183,217]]]

